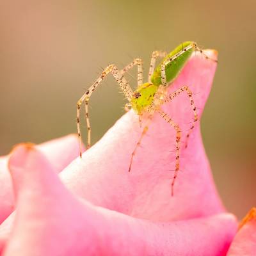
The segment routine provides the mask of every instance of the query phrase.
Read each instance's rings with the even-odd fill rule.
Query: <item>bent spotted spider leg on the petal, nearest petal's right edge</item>
[[[198,121],[198,114],[196,112],[196,106],[195,106],[195,102],[193,100],[192,92],[191,92],[191,90],[189,89],[188,86],[184,85],[184,86],[180,87],[178,90],[175,90],[173,93],[168,95],[168,97],[166,97],[164,102],[169,102],[169,101],[173,100],[175,97],[177,97],[182,92],[186,92],[188,94],[190,104],[191,104],[191,108],[193,109],[193,112],[194,112],[193,124],[189,128],[188,134],[186,135],[185,148],[187,148],[188,147],[189,136],[190,136],[191,132],[193,131],[193,129],[195,128],[196,121]]]

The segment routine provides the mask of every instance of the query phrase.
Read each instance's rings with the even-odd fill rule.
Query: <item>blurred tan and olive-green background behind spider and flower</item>
[[[153,50],[194,40],[219,52],[202,134],[220,195],[242,218],[256,206],[255,10],[254,0],[2,0],[0,154],[76,132],[76,102],[102,67],[140,57],[148,70]],[[113,78],[103,84],[91,101],[93,143],[124,113]]]

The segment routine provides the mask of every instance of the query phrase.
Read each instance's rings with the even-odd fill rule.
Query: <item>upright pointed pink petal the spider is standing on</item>
[[[216,58],[215,51],[209,50],[206,54]],[[169,92],[188,85],[201,116],[215,69],[214,61],[196,54]],[[188,95],[179,95],[163,109],[182,127],[184,141],[185,131],[193,120]],[[224,211],[212,180],[198,122],[188,148],[182,144],[181,171],[173,197],[170,188],[173,172],[170,170],[175,169],[175,131],[156,113],[129,173],[131,154],[141,132],[138,116],[129,111],[98,143],[84,152],[82,160],[76,159],[60,173],[64,184],[93,204],[147,220],[185,220]]]

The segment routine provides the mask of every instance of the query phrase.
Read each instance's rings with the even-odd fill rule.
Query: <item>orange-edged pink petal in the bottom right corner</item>
[[[237,232],[228,255],[256,255],[256,208],[253,208],[244,218],[243,227]]]

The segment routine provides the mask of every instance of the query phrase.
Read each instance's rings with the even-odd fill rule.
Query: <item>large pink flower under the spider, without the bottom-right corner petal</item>
[[[207,54],[216,58],[214,51]],[[188,85],[201,116],[215,68],[193,56],[170,92]],[[188,95],[163,110],[180,124],[184,138],[193,120]],[[236,218],[225,213],[216,193],[199,123],[188,148],[182,144],[174,196],[175,131],[155,115],[129,173],[140,134],[138,116],[129,111],[83,159],[72,161],[78,149],[71,141],[58,141],[61,147],[52,142],[48,150],[19,145],[8,161],[13,185],[7,159],[0,159],[2,220],[12,211],[12,186],[16,204],[0,226],[2,255],[225,255]]]

